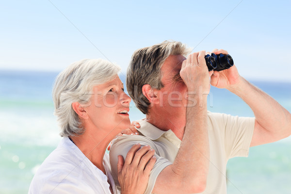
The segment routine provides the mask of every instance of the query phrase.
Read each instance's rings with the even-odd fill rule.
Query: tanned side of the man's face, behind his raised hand
[[[160,106],[164,116],[185,118],[187,87],[180,77],[182,62],[186,58],[182,55],[170,55],[162,65],[162,83],[164,87],[158,91]]]

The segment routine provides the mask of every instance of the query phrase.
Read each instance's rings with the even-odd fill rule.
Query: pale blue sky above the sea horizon
[[[0,70],[61,71],[175,40],[225,49],[252,80],[291,81],[291,1],[0,0]]]

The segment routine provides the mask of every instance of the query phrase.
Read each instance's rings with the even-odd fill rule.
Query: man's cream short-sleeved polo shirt
[[[151,146],[156,151],[157,162],[150,173],[146,188],[146,194],[150,194],[158,175],[174,162],[181,140],[171,129],[162,131],[144,120],[138,122],[141,125],[137,129],[140,135],[124,135],[113,141],[109,153],[110,164],[113,179],[117,189],[120,189],[117,180],[117,156],[126,158],[127,152],[136,143]],[[210,168],[203,194],[226,194],[226,163],[233,157],[248,156],[254,126],[255,118],[208,112]]]

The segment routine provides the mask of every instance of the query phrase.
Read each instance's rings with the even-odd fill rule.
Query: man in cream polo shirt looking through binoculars
[[[250,146],[291,134],[291,114],[243,79],[235,65],[209,72],[205,51],[186,59],[187,54],[184,44],[168,41],[134,52],[127,89],[146,118],[139,121],[140,135],[113,142],[110,162],[116,184],[117,156],[125,158],[132,145],[141,143],[155,149],[157,158],[147,194],[226,194],[228,159],[246,157]],[[210,84],[241,97],[255,118],[207,112]]]

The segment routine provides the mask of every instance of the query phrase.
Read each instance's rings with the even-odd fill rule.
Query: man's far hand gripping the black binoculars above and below
[[[223,49],[214,49],[212,50],[212,53],[218,55],[218,54],[228,54],[226,50]],[[217,88],[226,88],[239,83],[241,81],[241,76],[236,68],[235,65],[230,67],[229,69],[225,69],[223,71],[214,71],[214,73],[211,76],[210,83],[211,85],[217,87]]]

